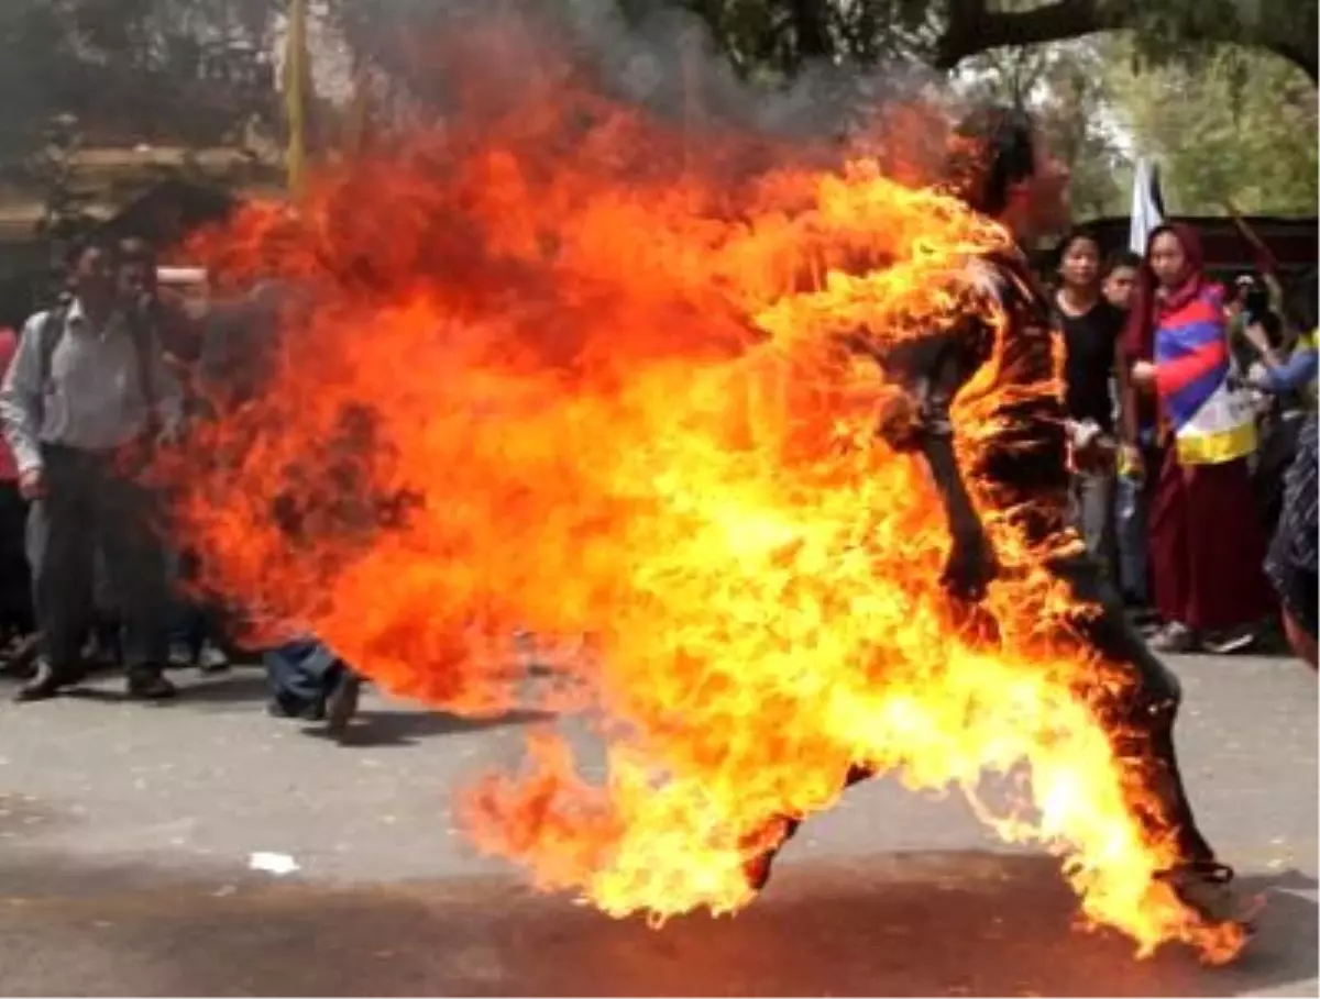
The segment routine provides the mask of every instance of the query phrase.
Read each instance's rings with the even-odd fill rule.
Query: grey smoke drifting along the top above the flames
[[[917,62],[818,61],[792,79],[743,78],[709,24],[669,3],[628,17],[619,0],[375,0],[348,34],[441,120],[471,96],[462,78],[474,63],[486,103],[516,100],[549,79],[589,78],[601,96],[693,132],[807,141],[874,138],[887,109],[948,96],[944,76]]]

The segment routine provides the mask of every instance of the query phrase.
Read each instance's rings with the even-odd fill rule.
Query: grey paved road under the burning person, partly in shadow
[[[339,747],[264,717],[260,677],[239,671],[169,706],[112,684],[0,706],[0,995],[1320,996],[1320,677],[1266,659],[1179,670],[1205,825],[1269,898],[1232,969],[1134,962],[1072,930],[1048,861],[888,783],[814,822],[738,919],[612,921],[533,895],[450,829],[447,791],[513,760],[525,720],[370,701],[362,745]],[[263,850],[302,870],[249,871]]]

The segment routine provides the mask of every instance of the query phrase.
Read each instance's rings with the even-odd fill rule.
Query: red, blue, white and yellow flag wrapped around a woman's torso
[[[1224,293],[1206,287],[1155,329],[1156,387],[1184,465],[1214,465],[1257,448],[1250,398],[1230,380]]]

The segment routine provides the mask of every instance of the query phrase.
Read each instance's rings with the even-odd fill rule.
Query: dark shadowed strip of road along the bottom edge
[[[1249,879],[1269,895],[1262,933],[1218,970],[1176,950],[1138,962],[1113,934],[1069,929],[1073,899],[1039,857],[789,866],[742,916],[659,932],[503,879],[216,891],[147,884],[140,872],[120,888],[106,875],[57,876],[81,887],[0,905],[5,999],[1239,999],[1271,988],[1300,999],[1320,978],[1320,904],[1295,894],[1320,883],[1300,874]],[[33,878],[30,865],[0,869],[0,890],[12,896]]]

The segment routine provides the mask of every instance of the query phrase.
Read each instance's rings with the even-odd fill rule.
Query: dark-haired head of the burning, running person
[[[1068,227],[1068,167],[1045,148],[1026,111],[995,105],[965,119],[952,171],[968,204],[1018,239],[1036,240]]]

